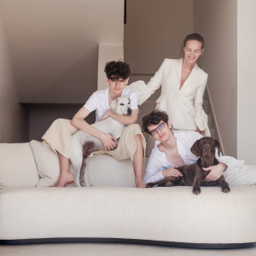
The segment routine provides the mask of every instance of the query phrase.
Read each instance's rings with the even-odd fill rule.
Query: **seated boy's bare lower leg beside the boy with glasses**
[[[143,150],[143,142],[140,134],[135,136],[137,149],[133,155],[133,169],[135,173],[135,184],[137,188],[144,189],[146,188],[145,183],[143,183],[143,158],[144,158],[144,150]]]

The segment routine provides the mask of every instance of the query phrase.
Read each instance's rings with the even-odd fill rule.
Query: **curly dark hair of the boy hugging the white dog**
[[[131,73],[130,65],[125,61],[109,61],[104,69],[108,79],[128,79]]]

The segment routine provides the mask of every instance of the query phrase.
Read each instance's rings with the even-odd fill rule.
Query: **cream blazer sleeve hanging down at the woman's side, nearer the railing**
[[[199,128],[200,131],[205,131],[206,129],[209,130],[207,125],[207,114],[202,108],[203,96],[207,86],[207,79],[208,75],[203,84],[201,84],[201,87],[197,90],[194,98],[195,125]]]

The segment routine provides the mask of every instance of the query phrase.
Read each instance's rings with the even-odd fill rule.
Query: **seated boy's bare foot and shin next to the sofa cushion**
[[[69,159],[58,152],[60,166],[61,166],[61,175],[56,184],[56,187],[64,187],[68,183],[73,183],[73,174],[69,169]]]

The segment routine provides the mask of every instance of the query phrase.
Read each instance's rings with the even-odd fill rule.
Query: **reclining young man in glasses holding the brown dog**
[[[156,140],[154,148],[149,156],[146,174],[143,182],[156,182],[164,177],[183,176],[175,169],[176,166],[190,166],[198,157],[190,152],[190,148],[196,140],[201,139],[201,134],[196,131],[172,131],[172,124],[164,111],[154,110],[143,117],[143,131],[146,131]],[[217,180],[224,175],[230,185],[254,185],[256,183],[256,168],[241,172],[244,160],[236,160],[230,156],[221,155],[216,158],[217,166],[204,168],[210,171],[206,177],[207,181]],[[243,170],[243,169],[242,169]],[[238,172],[240,171],[240,172]],[[241,175],[247,175],[247,180],[241,182]]]

